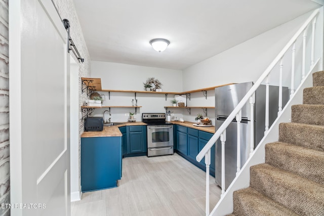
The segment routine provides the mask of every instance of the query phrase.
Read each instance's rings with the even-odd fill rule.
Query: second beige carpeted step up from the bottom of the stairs
[[[324,185],[263,163],[250,167],[250,186],[299,214],[324,214]]]

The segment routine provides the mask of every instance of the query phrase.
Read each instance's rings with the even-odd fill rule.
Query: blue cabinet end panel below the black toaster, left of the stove
[[[81,138],[82,192],[117,187],[121,157],[121,137]]]

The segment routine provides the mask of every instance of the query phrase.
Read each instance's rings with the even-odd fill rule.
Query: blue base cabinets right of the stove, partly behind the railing
[[[176,136],[175,151],[192,164],[206,171],[205,157],[200,162],[197,162],[196,156],[213,134],[182,125],[174,125],[174,127]],[[215,177],[215,145],[211,148],[210,174]]]

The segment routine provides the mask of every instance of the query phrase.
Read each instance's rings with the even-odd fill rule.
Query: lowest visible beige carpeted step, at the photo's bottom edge
[[[237,215],[298,215],[251,187],[235,191],[233,196],[244,204],[240,209],[234,206],[233,213],[238,212]]]

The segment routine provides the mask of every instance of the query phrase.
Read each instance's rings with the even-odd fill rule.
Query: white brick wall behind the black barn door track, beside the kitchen
[[[1,0],[0,0],[1,1]],[[80,77],[90,77],[91,74],[91,64],[90,55],[87,49],[86,41],[83,37],[82,28],[80,26],[77,14],[75,12],[74,4],[72,0],[52,0],[59,15],[62,19],[68,19],[70,22],[70,35],[79,51],[82,58],[85,59],[84,63],[78,63],[79,65],[79,106],[83,105],[83,102],[87,99],[87,94],[82,94],[82,81]],[[72,54],[71,56],[74,57]],[[75,62],[78,62],[74,58]],[[79,120],[79,135],[84,132],[84,121]],[[79,138],[79,180],[80,180],[80,138]],[[80,186],[80,182],[78,184]]]

